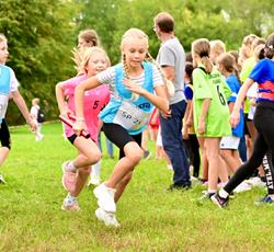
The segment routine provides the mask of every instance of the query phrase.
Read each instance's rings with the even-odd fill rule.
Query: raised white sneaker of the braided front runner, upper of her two
[[[98,198],[98,205],[105,211],[115,213],[116,204],[114,202],[114,194],[116,190],[106,187],[104,183],[93,190]]]

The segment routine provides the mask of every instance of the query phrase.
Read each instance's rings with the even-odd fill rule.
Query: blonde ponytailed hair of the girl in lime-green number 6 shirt
[[[210,43],[207,38],[198,38],[192,43],[192,53],[201,58],[201,62],[205,67],[205,71],[210,73],[213,71],[213,62],[209,59]],[[196,64],[196,62],[195,62]]]

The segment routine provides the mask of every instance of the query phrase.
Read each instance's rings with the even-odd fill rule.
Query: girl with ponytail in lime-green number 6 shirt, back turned
[[[221,137],[230,136],[229,110],[227,98],[231,91],[209,59],[210,44],[206,38],[192,43],[193,71],[193,112],[194,128],[197,136],[204,137],[204,148],[208,160],[208,191],[201,199],[209,198],[216,193],[218,176],[228,181],[224,160],[219,154]]]

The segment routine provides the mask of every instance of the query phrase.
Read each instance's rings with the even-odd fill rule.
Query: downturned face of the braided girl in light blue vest
[[[141,38],[128,38],[122,49],[129,68],[139,68],[147,54],[147,42]]]

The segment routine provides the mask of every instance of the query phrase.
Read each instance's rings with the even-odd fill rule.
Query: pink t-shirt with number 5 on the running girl
[[[68,108],[72,112],[75,110],[75,89],[81,82],[88,79],[87,75],[81,75],[69,80],[62,81],[61,87],[65,89],[65,95],[68,99]],[[99,113],[102,107],[110,101],[110,90],[107,85],[101,84],[95,89],[91,89],[84,92],[83,98],[83,116],[91,139],[98,141],[99,134]],[[73,129],[65,125],[65,134],[70,137],[75,134]]]

